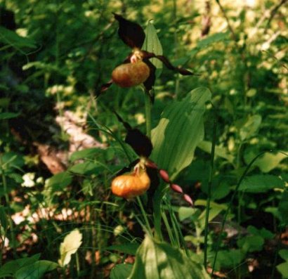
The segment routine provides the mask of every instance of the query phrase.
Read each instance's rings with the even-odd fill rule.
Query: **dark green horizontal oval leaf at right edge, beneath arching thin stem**
[[[273,188],[283,188],[284,181],[270,174],[247,176],[243,179],[239,190],[247,193],[261,193]]]

